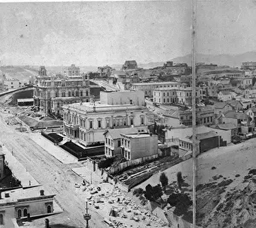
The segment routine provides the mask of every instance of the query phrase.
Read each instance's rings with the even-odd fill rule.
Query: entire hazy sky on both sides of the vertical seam
[[[190,0],[0,3],[0,60],[46,66],[172,60],[191,53],[190,28]],[[197,2],[198,53],[252,50],[253,0]]]

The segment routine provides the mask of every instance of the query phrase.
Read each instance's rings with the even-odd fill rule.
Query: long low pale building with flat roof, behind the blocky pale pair
[[[181,83],[177,82],[162,82],[162,83],[133,83],[132,90],[144,91],[145,96],[153,97],[153,90],[155,88],[179,88]]]

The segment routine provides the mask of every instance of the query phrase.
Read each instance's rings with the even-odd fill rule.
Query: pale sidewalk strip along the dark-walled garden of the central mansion
[[[61,147],[54,145],[51,141],[47,140],[40,133],[31,133],[29,134],[30,138],[44,148],[45,151],[48,151],[50,155],[58,159],[64,164],[70,164],[78,162],[78,158],[74,157],[67,151],[61,149]]]

